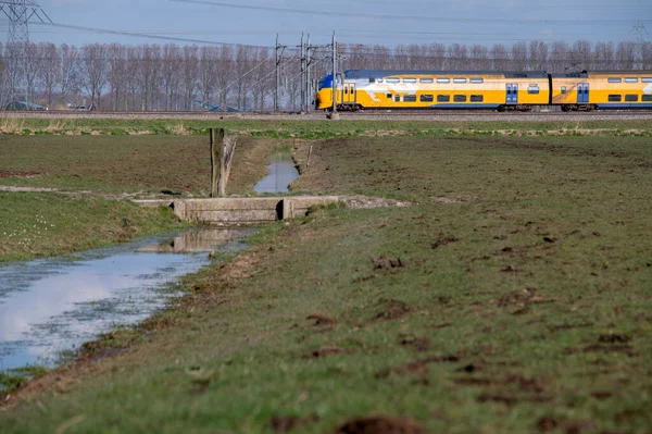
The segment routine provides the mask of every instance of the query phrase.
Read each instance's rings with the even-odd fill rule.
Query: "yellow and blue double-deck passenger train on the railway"
[[[499,71],[350,70],[324,76],[317,110],[493,109],[563,111],[652,109],[652,71],[574,74]]]

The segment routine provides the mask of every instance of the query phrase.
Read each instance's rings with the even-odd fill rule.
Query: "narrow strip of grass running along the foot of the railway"
[[[618,121],[315,121],[315,120],[0,120],[0,133],[11,135],[208,135],[209,128],[227,128],[239,135],[275,139],[324,139],[351,136],[611,136],[652,135],[648,120]]]

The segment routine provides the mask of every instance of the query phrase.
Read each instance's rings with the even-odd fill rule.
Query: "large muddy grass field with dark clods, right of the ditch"
[[[242,191],[273,146],[256,144]],[[29,384],[3,431],[652,431],[649,138],[291,145],[294,191],[414,206],[266,226],[168,311]]]

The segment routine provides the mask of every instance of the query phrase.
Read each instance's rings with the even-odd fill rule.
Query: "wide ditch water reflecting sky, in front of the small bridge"
[[[233,252],[247,230],[191,230],[55,258],[0,265],[0,371],[52,367],[116,325],[135,324],[175,295],[167,284]],[[197,255],[200,253],[200,255]]]

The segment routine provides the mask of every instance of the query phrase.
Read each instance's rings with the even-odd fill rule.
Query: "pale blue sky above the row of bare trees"
[[[57,26],[32,24],[30,40],[57,45],[203,41],[274,47],[277,33],[280,44],[287,46],[299,45],[302,33],[310,34],[313,45],[327,45],[334,30],[338,42],[389,47],[430,42],[511,46],[534,39],[617,44],[636,39],[632,26],[637,21],[647,27],[644,40],[652,40],[650,0],[38,1]],[[8,21],[0,14],[3,41],[7,30]]]

